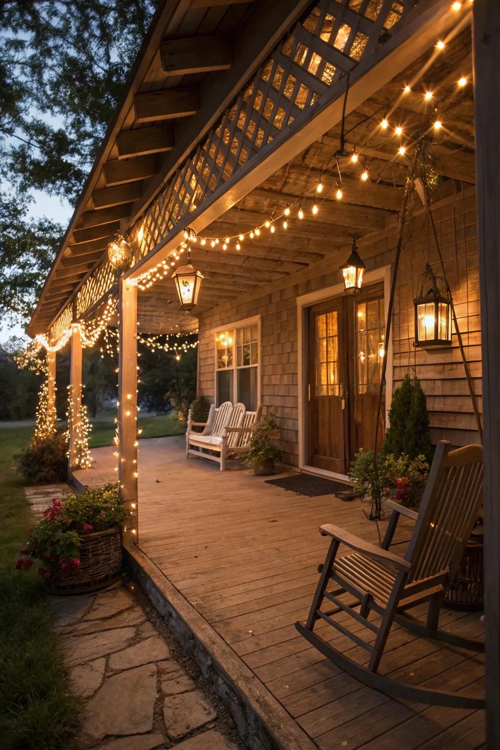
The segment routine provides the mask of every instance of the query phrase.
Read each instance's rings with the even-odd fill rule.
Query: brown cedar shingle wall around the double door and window
[[[459,187],[460,189],[460,187]],[[444,204],[444,205],[443,205]],[[415,212],[418,211],[416,207]],[[433,211],[445,269],[454,296],[463,344],[469,360],[478,404],[481,399],[481,346],[479,317],[478,248],[475,190],[439,202]],[[456,245],[457,241],[457,245]],[[367,270],[394,261],[397,232],[360,246]],[[254,315],[262,316],[261,394],[264,413],[277,407],[281,449],[286,463],[298,464],[298,332],[296,298],[342,281],[340,263],[346,253],[334,254],[304,271],[289,275],[256,292],[242,295],[208,311],[199,320],[199,395],[214,400],[214,329]],[[422,213],[412,220],[400,260],[393,319],[393,375],[396,388],[407,372],[415,372],[427,395],[433,443],[439,438],[454,446],[477,443],[475,419],[460,359],[457,337],[451,349],[415,350],[414,306],[421,272],[429,260],[441,275],[432,226]],[[203,293],[203,290],[202,290]]]

